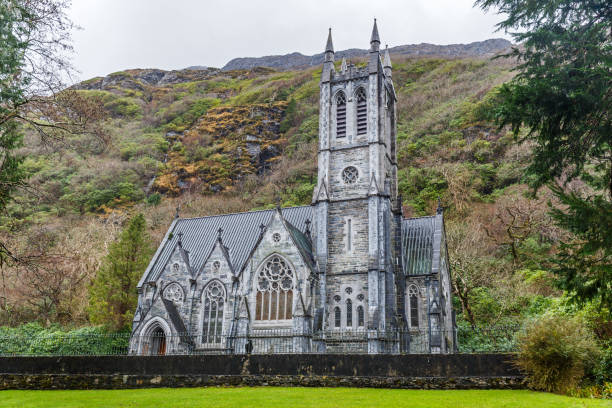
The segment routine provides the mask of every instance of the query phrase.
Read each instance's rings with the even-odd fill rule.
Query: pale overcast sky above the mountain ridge
[[[473,0],[72,0],[79,79],[128,68],[221,67],[235,57],[367,48],[373,18],[383,44],[508,38],[501,17]]]

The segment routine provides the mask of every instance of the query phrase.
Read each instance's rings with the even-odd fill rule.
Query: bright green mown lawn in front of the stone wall
[[[90,391],[0,391],[0,407],[410,407],[590,408],[611,401],[534,391],[387,390],[372,388],[156,388]]]

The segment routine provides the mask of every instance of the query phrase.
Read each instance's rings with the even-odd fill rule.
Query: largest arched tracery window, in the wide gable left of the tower
[[[289,320],[293,316],[294,273],[289,263],[272,256],[257,275],[255,320]]]

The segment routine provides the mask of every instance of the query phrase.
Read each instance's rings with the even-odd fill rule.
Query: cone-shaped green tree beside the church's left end
[[[129,327],[138,297],[136,285],[153,255],[142,214],[133,217],[109,248],[89,291],[89,316],[112,330]]]

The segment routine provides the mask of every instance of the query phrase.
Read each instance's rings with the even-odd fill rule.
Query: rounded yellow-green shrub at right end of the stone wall
[[[598,359],[593,333],[576,317],[545,315],[518,338],[517,365],[530,387],[549,392],[575,388]]]

